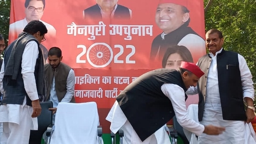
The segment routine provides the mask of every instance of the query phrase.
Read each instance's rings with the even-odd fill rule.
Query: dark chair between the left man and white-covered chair
[[[29,144],[41,144],[42,135],[47,130],[47,127],[52,124],[52,111],[48,110],[53,107],[52,102],[40,103],[42,112],[38,121],[38,130],[30,130]]]

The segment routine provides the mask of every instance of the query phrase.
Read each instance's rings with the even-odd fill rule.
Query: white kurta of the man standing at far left
[[[22,55],[22,61],[21,61],[21,73],[24,81],[25,90],[28,94],[28,97],[33,101],[38,99],[36,84],[35,84],[35,63],[36,59],[38,57],[39,51],[38,51],[38,45],[35,41],[30,41],[27,43],[23,55]],[[2,79],[4,76],[4,61],[1,67],[0,71],[0,89],[1,93],[3,93],[3,86],[2,86]],[[31,106],[26,105],[26,96],[24,98],[23,104],[5,104],[0,106],[0,122],[3,122],[3,125],[5,123],[10,123],[14,125],[13,131],[8,132],[8,130],[5,129],[5,125],[3,128],[3,133],[7,133],[6,135],[3,135],[1,144],[6,144],[7,140],[8,143],[12,143],[12,140],[18,139],[20,134],[17,134],[12,136],[12,132],[19,133],[19,127],[22,129],[28,129],[28,130],[37,130],[38,129],[38,123],[37,118],[32,118],[33,108]],[[30,117],[28,117],[30,116]],[[25,118],[25,119],[24,119]],[[15,124],[18,124],[15,126]],[[26,127],[22,127],[21,125],[27,125]],[[11,129],[11,128],[8,128]],[[21,130],[26,131],[26,130]],[[26,136],[29,139],[29,131],[28,136]],[[26,139],[26,138],[25,138]],[[11,141],[10,141],[11,140]],[[15,141],[14,141],[15,142]],[[18,143],[17,143],[18,144]],[[26,142],[23,143],[21,140],[19,144],[26,144]],[[28,144],[28,143],[27,143]]]

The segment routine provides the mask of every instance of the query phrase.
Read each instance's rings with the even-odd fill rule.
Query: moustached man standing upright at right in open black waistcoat
[[[226,51],[223,43],[221,31],[211,29],[206,33],[209,54],[197,62],[205,75],[198,81],[197,89],[192,87],[187,94],[198,90],[200,123],[213,123],[227,130],[219,136],[203,134],[198,137],[198,144],[256,144],[250,134],[245,135],[249,131],[245,124],[255,117],[252,75],[244,57]]]

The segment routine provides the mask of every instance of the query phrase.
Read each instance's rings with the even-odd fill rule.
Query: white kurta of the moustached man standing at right
[[[222,50],[222,49],[221,49]],[[246,144],[245,143],[245,122],[244,121],[228,121],[223,120],[221,110],[221,99],[219,93],[218,84],[218,71],[217,71],[217,55],[221,53],[221,50],[212,57],[212,62],[208,71],[207,90],[204,107],[202,124],[214,124],[217,126],[223,126],[226,130],[219,136],[209,136],[203,134],[199,136],[199,144]],[[241,73],[243,96],[248,96],[253,99],[254,89],[252,82],[252,75],[242,55],[238,55],[239,69]],[[250,144],[256,144],[250,143]]]

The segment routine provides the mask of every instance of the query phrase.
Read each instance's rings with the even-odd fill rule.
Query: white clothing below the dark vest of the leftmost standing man
[[[3,123],[1,144],[28,144],[30,130],[37,130],[37,118],[32,118],[33,108],[26,105],[4,104],[0,106],[0,122]]]

